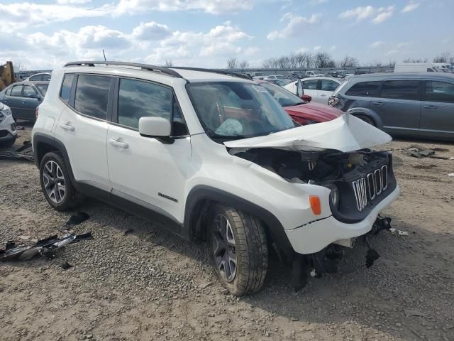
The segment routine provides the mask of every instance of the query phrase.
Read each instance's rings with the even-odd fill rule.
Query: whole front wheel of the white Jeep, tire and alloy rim
[[[268,266],[262,222],[233,207],[216,204],[209,229],[211,260],[221,284],[236,296],[259,291]]]

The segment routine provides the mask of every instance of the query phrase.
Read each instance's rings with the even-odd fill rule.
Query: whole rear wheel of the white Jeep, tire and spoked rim
[[[46,200],[55,210],[72,210],[84,199],[84,196],[72,185],[60,153],[45,154],[40,163],[40,183]]]

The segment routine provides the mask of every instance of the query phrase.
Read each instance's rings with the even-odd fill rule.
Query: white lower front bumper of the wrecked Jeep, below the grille
[[[296,229],[287,229],[285,233],[294,251],[299,254],[314,254],[339,239],[359,237],[372,229],[380,211],[399,197],[399,185],[384,200],[372,208],[364,220],[353,224],[340,222],[332,215],[310,222]]]

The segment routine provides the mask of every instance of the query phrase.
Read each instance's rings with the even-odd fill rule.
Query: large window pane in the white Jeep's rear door
[[[74,108],[96,119],[106,119],[110,87],[111,77],[79,75]]]

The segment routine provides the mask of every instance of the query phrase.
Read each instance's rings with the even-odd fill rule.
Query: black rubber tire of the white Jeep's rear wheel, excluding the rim
[[[53,162],[53,163],[52,163]],[[57,202],[55,199],[52,199],[50,195],[48,195],[48,190],[45,188],[45,167],[46,165],[51,165],[53,166],[57,164],[58,167],[60,167],[62,178],[64,179],[63,183],[65,185],[65,193],[64,195],[59,195],[59,198],[61,199],[60,202]],[[57,177],[54,177],[57,178]],[[72,210],[75,207],[79,206],[82,204],[84,200],[84,195],[82,193],[79,193],[74,186],[71,183],[70,180],[70,175],[67,171],[67,166],[65,165],[65,161],[63,160],[62,156],[58,152],[50,152],[46,153],[45,156],[43,156],[43,159],[41,160],[40,163],[40,184],[41,184],[41,189],[43,190],[45,199],[48,200],[49,205],[54,207],[55,210],[57,211],[67,211],[67,210]],[[55,186],[55,184],[54,184]]]

